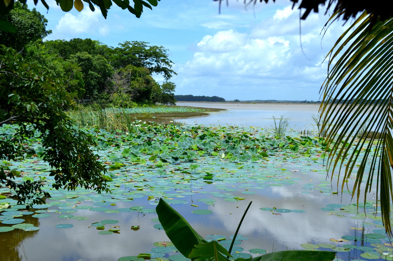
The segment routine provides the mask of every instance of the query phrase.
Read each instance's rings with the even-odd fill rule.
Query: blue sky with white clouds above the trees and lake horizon
[[[36,6],[53,32],[45,40],[91,38],[114,47],[125,41],[162,45],[178,73],[170,80],[176,84],[175,94],[226,100],[319,100],[327,76],[323,60],[346,29],[338,21],[321,34],[329,19],[323,7],[301,20],[299,27],[299,10],[292,9],[289,0],[246,8],[242,0],[229,0],[220,14],[213,0],[161,0],[153,10],[144,7],[140,18],[112,6],[107,19],[98,8],[90,11],[85,2],[81,12],[73,8],[67,13],[54,0],[46,2],[48,13],[40,2]],[[34,7],[32,0],[27,4]],[[164,80],[162,75],[153,77]]]

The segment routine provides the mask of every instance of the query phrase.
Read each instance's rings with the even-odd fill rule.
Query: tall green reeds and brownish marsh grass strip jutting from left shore
[[[164,106],[160,106],[164,107]],[[172,106],[178,107],[178,106]],[[209,112],[222,111],[216,108],[200,108],[203,112],[162,112],[162,113],[129,113],[126,109],[110,110],[103,109],[98,104],[77,105],[73,110],[68,111],[68,116],[77,126],[89,126],[106,130],[122,130],[132,132],[135,124],[145,122],[147,124],[181,124],[176,121],[181,118],[191,118],[208,116]]]

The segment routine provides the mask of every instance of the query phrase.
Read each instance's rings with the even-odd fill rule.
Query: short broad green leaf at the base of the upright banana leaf
[[[195,245],[194,247],[195,248],[191,250],[191,254],[188,256],[188,258],[191,258],[193,261],[228,261],[226,256],[232,257],[229,252],[215,240]],[[225,256],[223,256],[223,254]]]

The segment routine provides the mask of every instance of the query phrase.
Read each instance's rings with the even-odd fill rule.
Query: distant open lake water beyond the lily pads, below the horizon
[[[206,117],[179,119],[187,124],[205,125],[239,125],[265,127],[274,125],[272,116],[279,118],[285,115],[290,118],[289,126],[294,129],[312,129],[311,116],[318,114],[319,104],[298,103],[209,103],[209,102],[178,102],[179,106],[194,106],[226,109],[214,112]],[[278,122],[277,122],[278,123]]]

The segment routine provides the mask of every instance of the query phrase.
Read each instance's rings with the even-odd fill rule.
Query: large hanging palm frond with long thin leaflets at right
[[[334,13],[330,20],[339,15]],[[326,148],[331,147],[327,167],[334,174],[338,172],[337,186],[341,180],[341,190],[347,187],[361,161],[351,195],[359,203],[360,185],[368,172],[364,201],[367,192],[375,188],[378,202],[379,191],[382,222],[391,236],[393,18],[374,22],[369,14],[362,13],[327,55],[329,74],[321,87],[321,129],[327,130]],[[347,143],[349,146],[345,146]],[[364,155],[357,150],[364,150]],[[369,157],[371,167],[366,171]],[[373,184],[375,175],[377,181]]]

